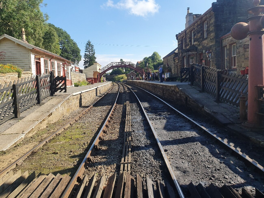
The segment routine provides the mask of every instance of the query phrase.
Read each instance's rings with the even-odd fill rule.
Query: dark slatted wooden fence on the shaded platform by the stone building
[[[182,69],[181,73],[186,73],[186,68]],[[189,79],[191,85],[199,87],[202,92],[211,94],[216,101],[221,100],[239,106],[241,93],[248,96],[247,75],[228,73],[226,70],[217,70],[199,64],[193,64],[187,69],[190,72],[185,78]]]

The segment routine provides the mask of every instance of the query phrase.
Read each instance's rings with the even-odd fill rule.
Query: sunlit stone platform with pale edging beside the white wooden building
[[[45,128],[47,124],[54,123],[64,115],[92,101],[98,92],[105,92],[112,82],[95,83],[82,87],[67,87],[67,92],[56,92],[20,113],[20,118],[10,119],[0,125],[0,151],[7,150],[25,137],[34,134],[37,130]]]

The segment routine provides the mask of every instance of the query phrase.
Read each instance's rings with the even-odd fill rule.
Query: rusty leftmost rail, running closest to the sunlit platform
[[[109,91],[111,91],[113,88],[114,88],[114,86],[112,86],[112,88],[109,89]],[[14,161],[12,164],[8,165],[6,168],[4,168],[3,170],[1,170],[0,177],[2,175],[6,174],[11,169],[13,169],[18,162],[20,162],[23,159],[25,159],[26,157],[28,157],[32,152],[35,152],[37,149],[39,149],[40,147],[42,147],[43,145],[45,145],[45,143],[47,143],[49,140],[51,140],[54,136],[60,134],[62,131],[64,131],[65,129],[67,129],[70,125],[72,125],[73,123],[75,123],[79,118],[81,118],[84,114],[86,114],[93,107],[93,105],[95,105],[99,100],[101,100],[109,91],[107,91],[102,97],[100,97],[97,101],[95,101],[87,109],[85,109],[84,111],[82,111],[80,114],[78,114],[72,120],[70,120],[65,125],[63,125],[62,127],[60,127],[57,131],[55,131],[54,133],[52,133],[49,137],[45,138],[38,145],[36,145],[35,147],[33,147],[31,150],[27,151],[22,157],[20,157],[19,159],[17,159],[16,161]]]

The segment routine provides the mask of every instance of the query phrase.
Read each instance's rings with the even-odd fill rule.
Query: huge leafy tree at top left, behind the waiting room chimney
[[[25,29],[26,40],[37,47],[43,47],[45,21],[48,15],[40,10],[43,0],[6,0],[0,10],[0,35],[8,34],[21,38],[21,28]]]

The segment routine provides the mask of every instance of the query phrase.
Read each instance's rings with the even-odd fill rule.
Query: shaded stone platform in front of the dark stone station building
[[[254,144],[264,147],[264,128],[248,128],[244,126],[243,122],[245,121],[239,120],[238,107],[225,102],[216,102],[215,97],[208,93],[200,92],[199,88],[191,86],[189,82],[163,81],[160,83],[159,81],[129,80],[127,83],[173,101],[184,101],[188,97],[188,106],[194,107],[195,110],[201,111],[224,127],[248,138]],[[169,92],[169,94],[165,92]]]

